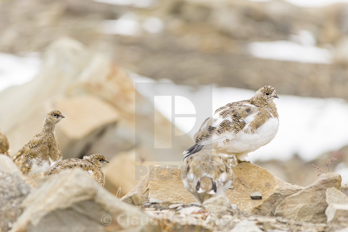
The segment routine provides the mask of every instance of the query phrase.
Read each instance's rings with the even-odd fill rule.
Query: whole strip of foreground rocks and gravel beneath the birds
[[[75,169],[27,180],[0,155],[1,231],[313,231],[348,229],[341,176],[323,174],[306,188],[286,183],[251,163],[233,168],[226,196],[199,205],[180,169],[155,166],[118,199]],[[12,191],[8,191],[11,189]],[[252,199],[259,192],[261,199]],[[231,204],[232,203],[232,204]],[[342,229],[342,230],[341,230]]]

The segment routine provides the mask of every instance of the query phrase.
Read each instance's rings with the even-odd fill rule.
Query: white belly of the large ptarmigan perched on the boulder
[[[256,129],[255,133],[245,132],[247,128],[237,134],[226,133],[229,141],[226,144],[224,141],[219,141],[216,147],[227,153],[248,153],[272,141],[278,132],[278,127],[278,118],[270,118]]]

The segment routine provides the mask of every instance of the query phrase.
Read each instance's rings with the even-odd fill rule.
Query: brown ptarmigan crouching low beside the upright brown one
[[[101,154],[94,154],[91,156],[84,156],[83,159],[64,159],[48,168],[45,172],[45,176],[59,173],[63,169],[81,168],[88,174],[93,176],[93,179],[98,182],[98,184],[103,187],[105,184],[105,175],[102,169],[104,164],[109,163],[104,156]]]

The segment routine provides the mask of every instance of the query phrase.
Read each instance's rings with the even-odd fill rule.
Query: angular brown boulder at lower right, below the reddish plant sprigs
[[[325,223],[326,189],[340,189],[341,180],[337,173],[322,174],[313,184],[287,197],[277,207],[275,215],[311,223]]]

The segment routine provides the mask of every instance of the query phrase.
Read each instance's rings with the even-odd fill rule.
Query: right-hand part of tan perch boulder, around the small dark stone
[[[240,163],[232,168],[235,173],[233,189],[226,191],[226,196],[238,209],[261,215],[273,215],[282,201],[301,189],[287,183],[266,169],[252,163]],[[250,194],[259,191],[261,200],[252,200]]]

